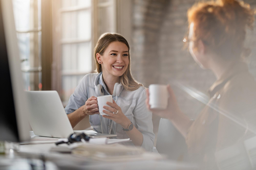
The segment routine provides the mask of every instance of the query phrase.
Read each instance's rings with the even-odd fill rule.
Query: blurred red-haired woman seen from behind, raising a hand
[[[202,163],[202,169],[215,169],[220,165],[218,153],[238,143],[242,146],[256,134],[256,83],[243,61],[250,54],[244,41],[246,29],[253,29],[254,11],[236,0],[201,2],[188,10],[188,21],[191,55],[217,78],[209,89],[208,104],[195,121],[190,120],[178,107],[170,86],[166,110],[150,109],[149,97],[146,103],[186,138],[191,160]]]

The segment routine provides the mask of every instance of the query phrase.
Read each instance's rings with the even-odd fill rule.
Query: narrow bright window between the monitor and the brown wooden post
[[[13,0],[25,90],[41,90],[41,0]]]

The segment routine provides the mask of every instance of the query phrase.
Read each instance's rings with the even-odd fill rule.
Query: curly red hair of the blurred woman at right
[[[253,30],[255,11],[249,4],[236,0],[200,2],[188,10],[189,25],[194,23],[194,46],[201,40],[207,49],[230,59],[248,57],[244,47],[246,29]]]

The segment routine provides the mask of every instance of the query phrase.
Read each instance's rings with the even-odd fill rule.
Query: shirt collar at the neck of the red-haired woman
[[[248,72],[248,65],[245,62],[239,61],[234,64],[232,64],[215,82],[214,84],[208,89],[208,93],[210,94],[210,97],[212,97],[218,90],[219,87],[223,87],[222,84],[225,85],[225,83],[231,79],[236,74],[239,74],[241,72]]]

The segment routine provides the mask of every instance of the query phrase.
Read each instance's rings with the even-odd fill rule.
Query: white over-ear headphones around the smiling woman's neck
[[[103,92],[103,87],[101,84],[98,84],[96,85],[97,81],[100,79],[100,75],[102,74],[99,73],[96,77],[96,79],[94,80],[94,88],[95,88],[95,93],[96,93],[96,96],[99,97],[99,96],[104,96],[104,92]],[[113,91],[113,95],[114,96],[120,96],[121,92],[123,90],[123,86],[122,84],[119,84],[119,83],[116,83],[115,86],[114,86],[114,91]]]

